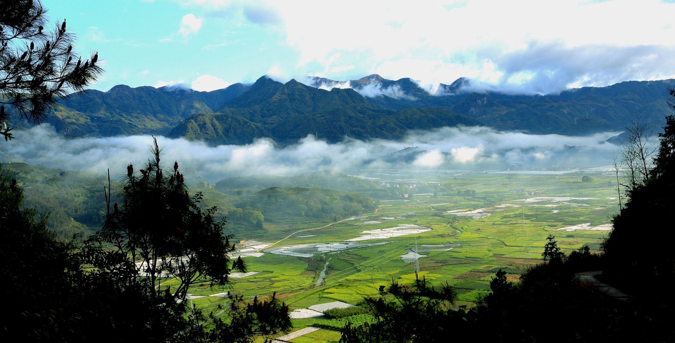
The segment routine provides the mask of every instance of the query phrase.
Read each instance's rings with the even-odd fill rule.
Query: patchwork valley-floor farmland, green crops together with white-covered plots
[[[602,168],[562,175],[410,174],[362,176],[390,184],[440,182],[448,192],[385,200],[355,219],[289,219],[283,226],[266,224],[265,232],[239,232],[236,240],[265,246],[255,250],[263,253],[260,257],[244,257],[248,271],[257,273],[233,280],[232,288],[194,288],[190,292],[203,297],[191,301],[212,311],[226,299],[211,294],[230,291],[252,298],[276,291],[292,310],[337,300],[356,304],[366,296],[379,296],[379,286],[391,280],[414,280],[410,257],[416,256],[420,277],[433,284],[448,282],[458,288],[458,305],[470,307],[479,294],[489,292],[489,280],[499,268],[514,281],[529,265],[541,263],[549,234],[565,253],[584,245],[598,250],[618,211],[616,178]],[[581,182],[584,175],[595,180]],[[298,225],[289,225],[292,222]],[[300,329],[328,319],[293,320]],[[320,342],[323,330],[316,338],[308,336],[307,342]],[[321,342],[329,340],[336,338]]]

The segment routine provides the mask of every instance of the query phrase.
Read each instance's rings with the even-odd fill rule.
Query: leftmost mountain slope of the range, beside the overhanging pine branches
[[[233,84],[212,92],[117,85],[107,92],[85,90],[61,100],[47,122],[74,136],[167,134],[194,113],[211,113],[248,89]]]

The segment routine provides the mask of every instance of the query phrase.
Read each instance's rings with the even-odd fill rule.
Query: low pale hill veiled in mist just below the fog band
[[[329,188],[347,190],[349,192],[377,192],[377,190],[382,189],[370,180],[362,180],[335,171],[313,171],[298,176],[259,174],[227,178],[217,182],[215,190],[224,193],[246,188],[260,190],[271,186]]]

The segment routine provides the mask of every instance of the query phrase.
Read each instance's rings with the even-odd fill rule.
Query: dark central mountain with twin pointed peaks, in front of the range
[[[205,140],[211,144],[243,141],[237,130],[228,134],[226,130],[213,129],[232,126],[233,122],[234,127],[248,135],[246,142],[265,137],[269,132],[269,136],[281,144],[295,142],[308,134],[318,134],[319,138],[331,142],[345,136],[398,139],[408,130],[482,124],[446,109],[393,111],[377,107],[352,89],[328,91],[296,80],[282,84],[267,77],[259,78],[246,93],[227,101],[218,112],[188,117],[171,130],[169,137]]]

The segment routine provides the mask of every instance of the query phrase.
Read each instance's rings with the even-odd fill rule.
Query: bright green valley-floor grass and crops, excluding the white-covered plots
[[[588,173],[585,173],[588,174]],[[600,174],[600,173],[597,173]],[[422,234],[398,236],[390,239],[373,240],[373,242],[388,242],[387,244],[368,246],[363,248],[343,250],[334,254],[325,254],[324,258],[330,261],[325,284],[315,287],[318,271],[307,261],[298,257],[282,257],[265,254],[262,257],[246,257],[244,261],[249,271],[261,271],[259,274],[235,280],[232,291],[244,296],[271,294],[277,291],[277,296],[290,305],[291,309],[306,308],[311,305],[340,300],[352,305],[363,300],[364,297],[379,297],[379,286],[386,286],[391,280],[411,282],[414,280],[414,271],[411,263],[404,263],[400,255],[404,249],[412,248],[415,244],[462,244],[450,251],[429,251],[422,253],[429,257],[419,259],[421,273],[419,275],[432,280],[434,284],[445,283],[456,286],[459,290],[458,305],[473,305],[473,301],[480,294],[489,292],[489,280],[499,268],[506,269],[509,275],[517,277],[525,269],[541,259],[541,251],[546,236],[553,234],[560,242],[565,253],[589,245],[597,249],[598,244],[607,232],[565,232],[556,231],[556,228],[576,225],[578,223],[592,223],[597,226],[609,223],[613,213],[618,211],[616,199],[605,199],[616,196],[614,189],[607,186],[610,175],[595,175],[596,182],[572,183],[581,178],[581,174],[566,174],[564,176],[504,176],[490,174],[473,174],[458,177],[433,175],[415,175],[417,180],[441,182],[451,190],[433,196],[414,197],[412,200],[386,201],[375,213],[362,213],[367,218],[363,221],[383,221],[380,224],[355,226],[358,220],[333,223],[332,220],[318,220],[312,218],[289,218],[282,226],[280,223],[266,223],[267,232],[240,232],[237,239],[258,240],[261,242],[276,242],[290,233],[305,228],[318,228],[331,224],[326,228],[305,231],[302,234],[315,236],[297,238],[291,236],[281,244],[302,244],[315,242],[342,242],[360,236],[363,230],[391,228],[397,224],[417,224],[433,228]],[[379,177],[379,176],[374,176]],[[606,179],[606,180],[605,180]],[[419,181],[418,181],[419,182]],[[479,186],[469,186],[480,184]],[[468,186],[468,187],[467,187]],[[476,189],[477,196],[465,197],[456,195],[454,188]],[[485,189],[485,190],[481,190]],[[489,189],[489,190],[488,190]],[[525,203],[524,207],[495,207],[502,204],[523,205],[520,199],[532,197],[526,191],[539,190],[537,196],[569,196],[594,197],[597,199],[574,200],[570,204],[562,203]],[[526,191],[525,191],[526,190]],[[428,196],[428,195],[427,195]],[[227,199],[233,196],[223,196]],[[236,198],[236,197],[234,197]],[[234,200],[232,200],[234,201]],[[448,205],[429,206],[438,203]],[[531,205],[560,205],[557,207],[542,207]],[[589,205],[589,206],[580,206]],[[607,209],[595,209],[607,207]],[[493,213],[489,217],[472,220],[452,214],[442,216],[432,215],[437,210],[451,211],[454,209],[481,209]],[[495,211],[495,210],[502,211]],[[551,213],[551,211],[558,213]],[[414,212],[414,215],[406,213]],[[379,219],[380,217],[405,217],[405,219]],[[524,217],[524,220],[523,220]],[[569,236],[571,235],[571,236]],[[369,242],[369,241],[364,241]],[[495,256],[495,257],[493,257]],[[319,255],[315,255],[318,259]],[[265,272],[263,272],[265,271]],[[471,272],[471,273],[469,273]],[[227,291],[225,289],[224,291]],[[223,292],[221,288],[204,288],[190,290],[193,294],[215,294]],[[216,302],[223,299],[205,297],[194,299],[194,303],[202,309],[217,306]],[[328,321],[325,317],[294,319],[297,329],[313,323]],[[329,342],[334,338],[319,338],[321,329],[313,333],[314,336],[301,336],[293,342]],[[319,335],[319,336],[317,336]]]

